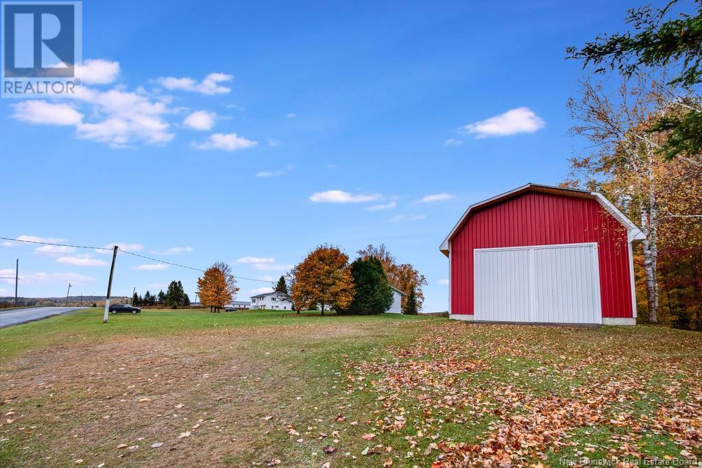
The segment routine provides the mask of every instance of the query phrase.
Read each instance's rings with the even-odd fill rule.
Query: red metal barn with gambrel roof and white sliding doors
[[[635,325],[642,239],[597,192],[527,184],[471,205],[441,245],[451,319]]]

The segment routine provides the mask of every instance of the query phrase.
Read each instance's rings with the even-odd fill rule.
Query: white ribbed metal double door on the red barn
[[[475,319],[602,323],[597,244],[475,250]]]

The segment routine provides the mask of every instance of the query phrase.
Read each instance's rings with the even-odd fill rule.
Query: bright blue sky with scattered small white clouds
[[[447,307],[439,243],[470,203],[565,178],[582,69],[564,49],[633,6],[175,3],[84,1],[84,98],[1,100],[0,236],[264,280],[320,243],[385,243],[425,274],[428,311]],[[105,293],[108,255],[34,250],[0,243],[20,295]],[[197,272],[153,263],[120,255],[114,294],[194,295]]]

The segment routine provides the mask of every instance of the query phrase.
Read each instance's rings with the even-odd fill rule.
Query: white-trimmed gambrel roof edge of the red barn
[[[449,256],[449,241],[453,239],[453,236],[456,235],[456,233],[463,227],[466,221],[468,221],[468,218],[470,218],[470,215],[472,213],[475,213],[475,211],[482,210],[484,208],[488,208],[489,206],[496,205],[498,203],[502,203],[503,201],[515,198],[516,196],[525,194],[527,192],[538,192],[538,193],[543,193],[543,194],[553,194],[553,195],[565,195],[565,196],[574,196],[577,198],[583,198],[583,199],[594,199],[597,200],[602,207],[609,212],[610,215],[612,215],[616,220],[621,222],[623,227],[625,227],[628,231],[628,239],[632,243],[639,243],[644,239],[644,234],[641,232],[641,229],[639,229],[629,218],[627,218],[624,213],[622,213],[616,206],[614,206],[611,201],[607,200],[600,192],[588,192],[587,190],[578,190],[578,189],[569,189],[566,187],[553,187],[552,185],[541,185],[541,184],[534,184],[529,182],[527,185],[522,185],[522,187],[517,187],[516,189],[510,190],[509,192],[505,192],[503,194],[493,196],[490,199],[486,199],[483,201],[479,201],[478,203],[474,203],[471,206],[468,207],[467,210],[465,210],[465,213],[463,213],[463,216],[461,216],[461,219],[458,220],[455,226],[453,226],[453,229],[451,229],[451,232],[449,233],[448,236],[446,236],[446,239],[441,243],[441,246],[439,246],[439,250],[446,255],[446,257]]]

